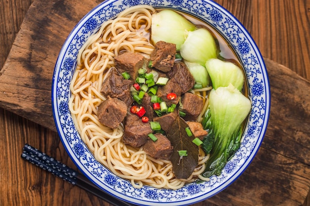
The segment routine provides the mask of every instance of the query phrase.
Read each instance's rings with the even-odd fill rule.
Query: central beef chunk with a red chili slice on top
[[[169,93],[175,93],[176,98],[167,99],[167,94]],[[179,84],[172,82],[170,80],[166,83],[166,85],[159,86],[157,89],[157,93],[156,93],[156,95],[160,97],[164,102],[166,102],[168,106],[171,106],[171,104],[178,104],[181,94],[182,94],[182,89],[179,86]]]

